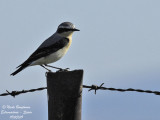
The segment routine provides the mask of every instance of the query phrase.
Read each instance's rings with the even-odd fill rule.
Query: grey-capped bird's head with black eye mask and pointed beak
[[[63,37],[69,37],[75,31],[80,31],[80,30],[76,29],[75,25],[73,25],[70,22],[63,22],[57,28],[57,33]]]

